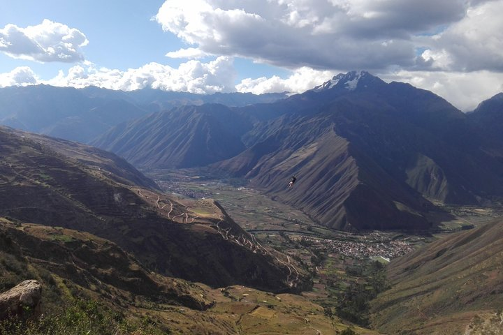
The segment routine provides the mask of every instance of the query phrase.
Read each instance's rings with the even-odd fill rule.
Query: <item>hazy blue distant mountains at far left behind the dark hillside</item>
[[[0,89],[0,106],[0,124],[79,142],[147,113],[118,96],[92,97],[82,89],[47,85]]]

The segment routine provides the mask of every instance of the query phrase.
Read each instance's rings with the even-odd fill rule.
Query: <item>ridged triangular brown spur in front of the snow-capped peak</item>
[[[430,228],[420,213],[428,201],[407,184],[395,181],[361,147],[339,135],[337,127],[343,121],[330,112],[287,122],[263,142],[216,166],[246,173],[242,165],[251,165],[254,153],[262,154],[252,158],[254,166],[246,174],[251,184],[332,228]],[[298,182],[286,189],[293,174]]]

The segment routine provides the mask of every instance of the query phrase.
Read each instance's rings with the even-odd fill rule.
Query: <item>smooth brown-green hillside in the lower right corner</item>
[[[501,334],[502,229],[497,219],[393,260],[391,289],[372,303],[374,327],[386,334]]]

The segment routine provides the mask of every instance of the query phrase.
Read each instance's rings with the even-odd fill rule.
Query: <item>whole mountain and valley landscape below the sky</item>
[[[501,97],[465,114],[365,71],[249,103],[13,91],[0,121],[38,134],[0,126],[0,286],[46,288],[36,327],[61,325],[58,308],[107,335],[478,335],[500,322]],[[61,113],[39,128],[37,110]],[[49,332],[20,325],[0,320],[0,334]]]

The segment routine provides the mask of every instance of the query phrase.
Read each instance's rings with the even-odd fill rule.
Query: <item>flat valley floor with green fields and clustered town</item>
[[[389,288],[385,265],[390,260],[502,216],[499,204],[437,204],[446,214],[431,214],[437,228],[430,232],[342,232],[323,227],[300,209],[249,188],[245,179],[215,179],[205,169],[150,170],[147,174],[179,201],[211,198],[219,202],[261,244],[282,251],[307,267],[313,287],[302,292],[303,297],[323,306],[327,315],[364,326],[370,325],[369,302]],[[349,302],[358,299],[362,301],[358,306]]]

